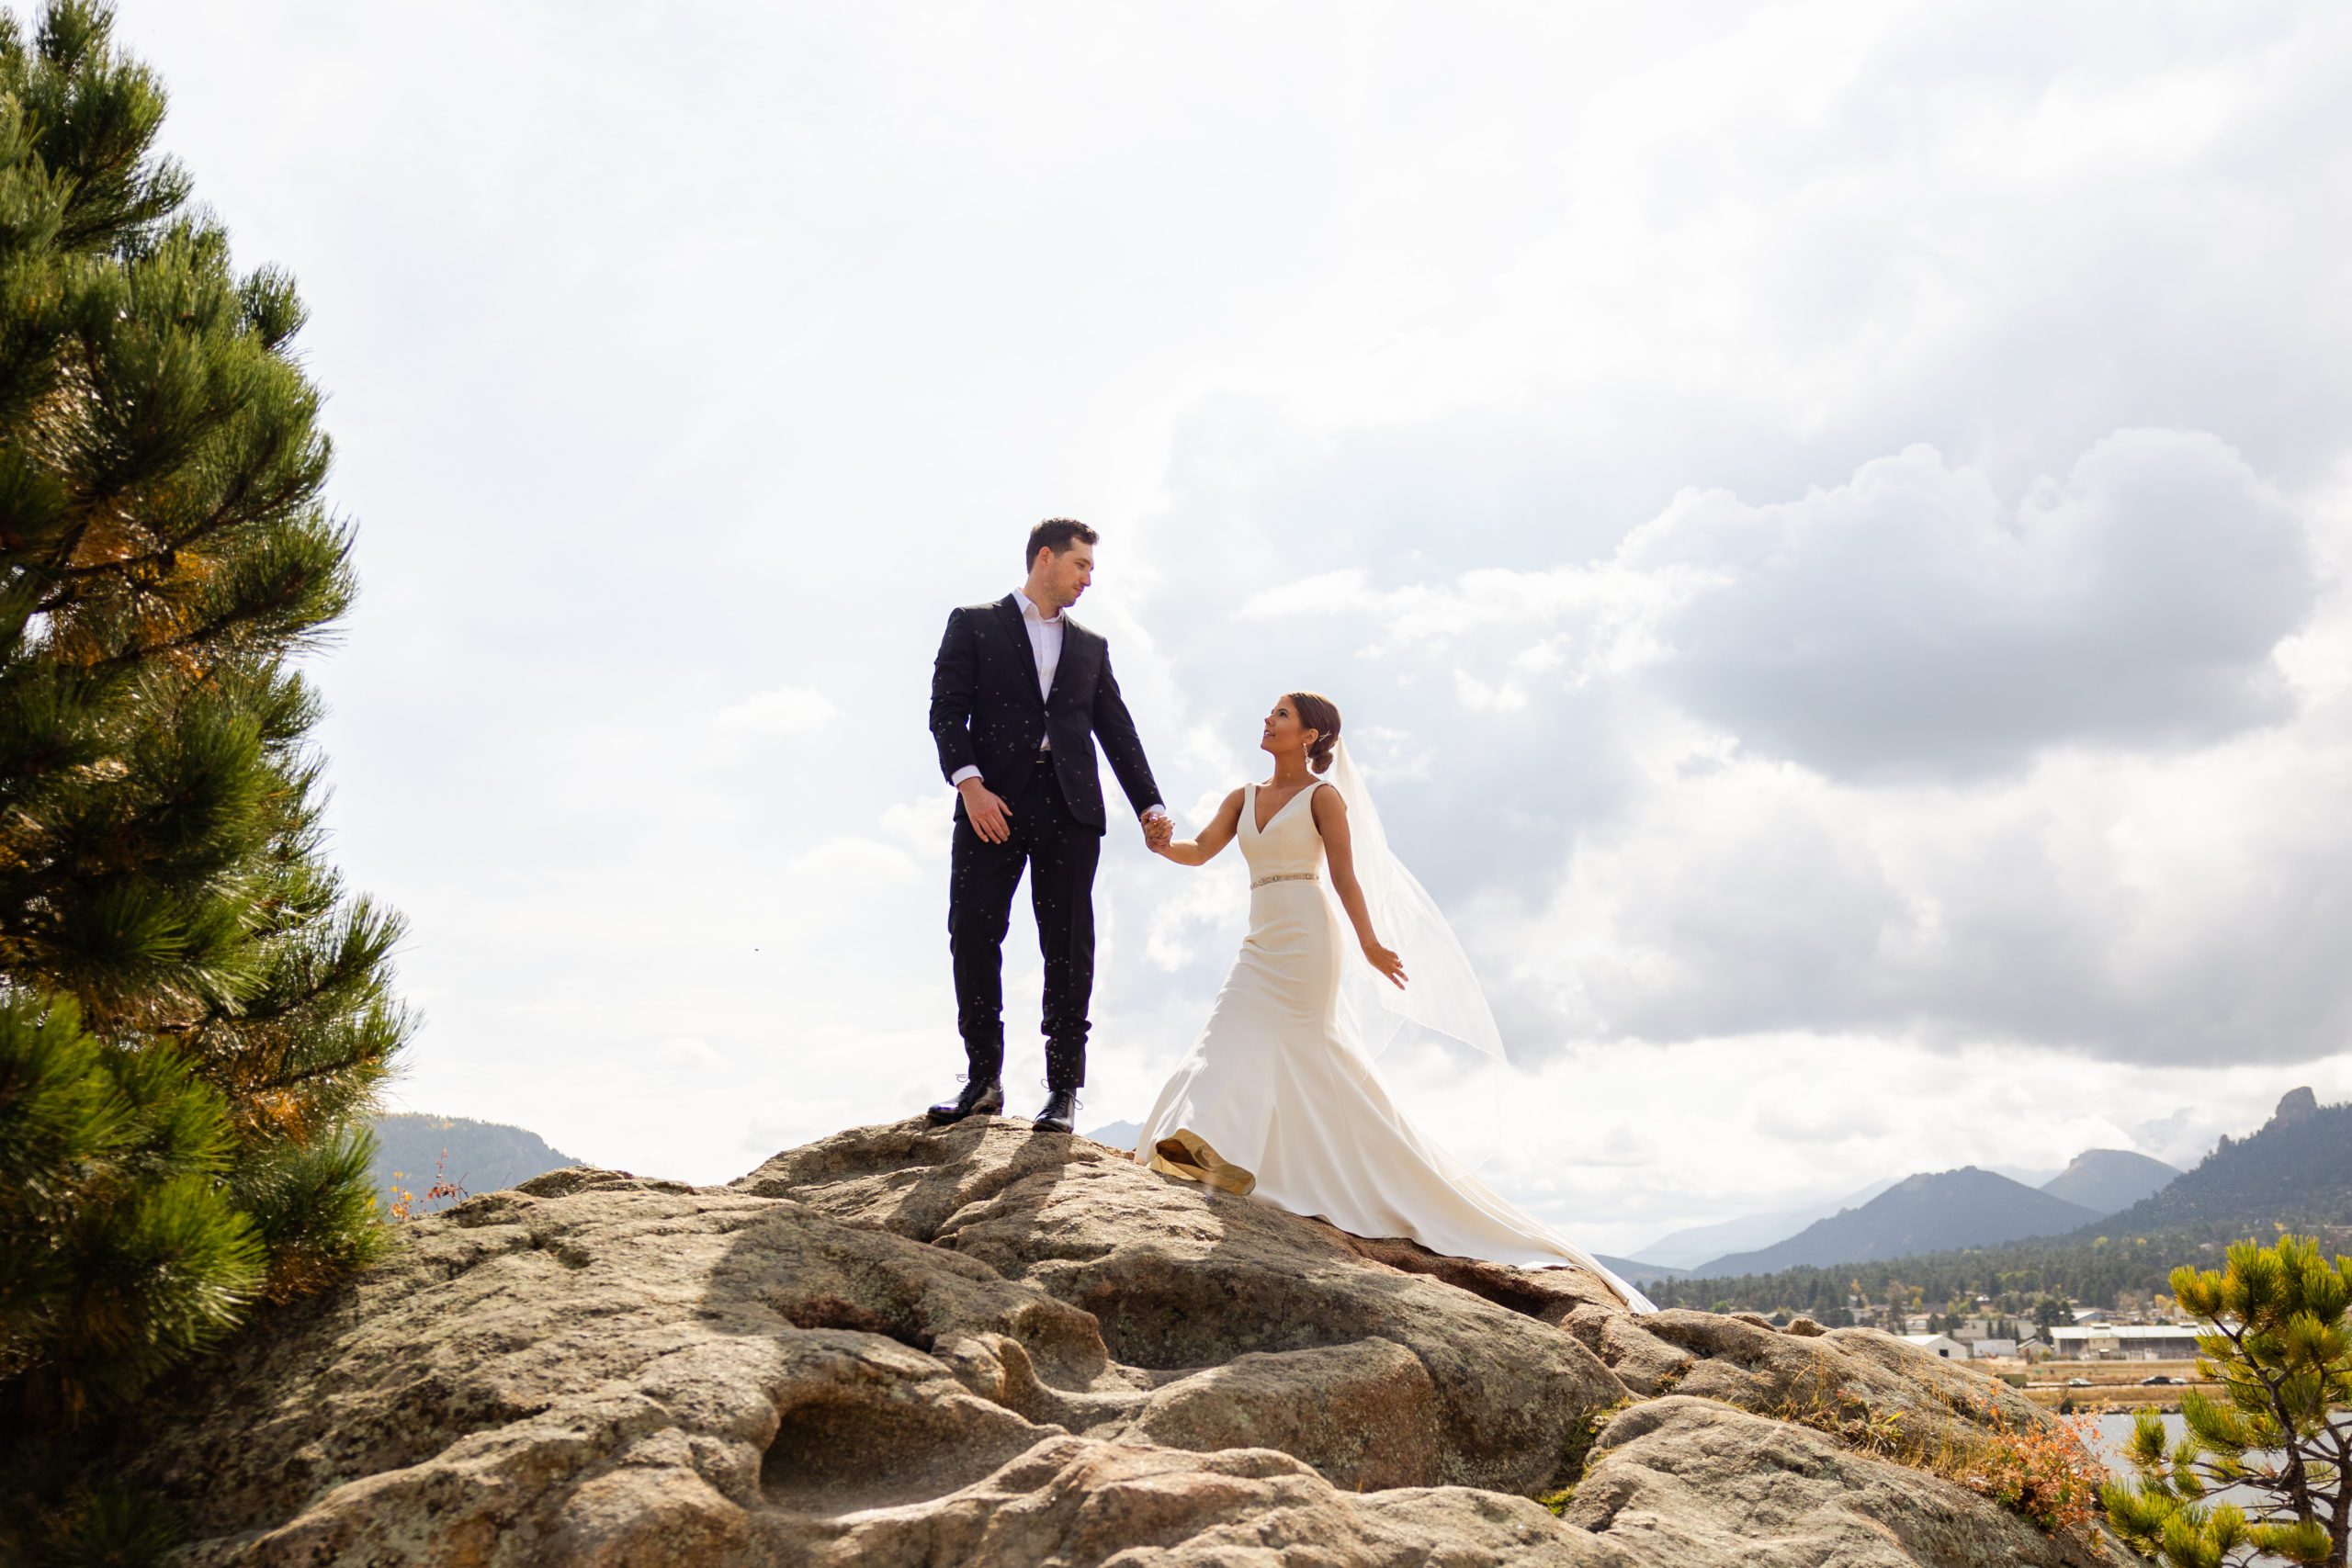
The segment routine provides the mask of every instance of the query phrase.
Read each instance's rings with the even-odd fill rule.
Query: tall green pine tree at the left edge
[[[353,578],[303,306],[111,24],[0,16],[0,1394],[52,1422],[383,1246],[409,1032],[320,844],[296,661]]]

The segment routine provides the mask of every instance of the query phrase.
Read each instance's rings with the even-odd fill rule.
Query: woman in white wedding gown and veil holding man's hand
[[[1451,1258],[1571,1262],[1635,1312],[1656,1312],[1430,1143],[1388,1098],[1369,1048],[1411,1020],[1501,1060],[1494,1013],[1437,905],[1388,851],[1331,698],[1291,691],[1265,715],[1258,745],[1272,752],[1275,776],[1228,795],[1197,839],[1155,851],[1207,865],[1240,839],[1249,936],[1209,1023],[1145,1117],[1136,1159],[1322,1215],[1357,1237],[1411,1237]],[[1362,966],[1348,961],[1343,917]],[[1416,990],[1406,992],[1404,959],[1381,945],[1383,933],[1414,952],[1423,969]]]

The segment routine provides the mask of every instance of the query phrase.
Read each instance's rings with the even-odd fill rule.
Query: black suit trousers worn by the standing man
[[[1011,806],[1011,837],[990,844],[955,811],[948,853],[948,952],[955,961],[955,1025],[974,1079],[1004,1072],[1004,933],[1021,870],[1030,875],[1037,950],[1044,954],[1044,1072],[1051,1088],[1087,1081],[1087,1004],[1094,997],[1094,867],[1103,832],[1070,816],[1040,757]]]

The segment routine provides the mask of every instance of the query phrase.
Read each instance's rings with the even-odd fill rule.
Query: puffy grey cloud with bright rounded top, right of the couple
[[[2284,719],[2272,651],[2317,595],[2305,522],[2185,430],[2119,430],[2013,508],[1926,447],[1802,501],[1691,494],[1618,562],[1700,583],[1658,625],[1679,703],[1832,773]]]

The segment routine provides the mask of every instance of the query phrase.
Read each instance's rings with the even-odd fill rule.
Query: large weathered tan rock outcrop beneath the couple
[[[1886,1335],[1632,1319],[1016,1121],[412,1234],[127,1443],[188,1563],[2091,1561],[1799,1425],[2042,1420]]]

